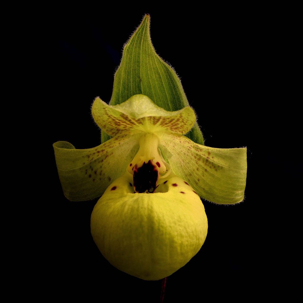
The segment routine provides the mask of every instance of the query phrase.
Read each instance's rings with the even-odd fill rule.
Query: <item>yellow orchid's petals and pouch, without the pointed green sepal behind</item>
[[[156,104],[142,94],[117,105],[96,98],[92,116],[111,138],[89,149],[53,145],[65,197],[101,197],[91,231],[102,254],[145,280],[171,275],[199,251],[208,228],[200,197],[241,202],[247,170],[246,148],[212,148],[185,136],[196,124],[189,105],[167,111]]]

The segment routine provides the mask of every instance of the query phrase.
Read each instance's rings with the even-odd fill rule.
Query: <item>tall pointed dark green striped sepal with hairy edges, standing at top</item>
[[[109,104],[121,104],[133,95],[143,94],[167,111],[178,111],[189,104],[177,74],[155,52],[151,43],[149,22],[149,15],[145,15],[124,46],[121,64],[115,73],[114,88]],[[178,43],[175,46],[170,44],[169,47],[173,52],[174,47],[178,47]],[[102,133],[104,132],[106,131],[102,130]],[[197,124],[193,126],[193,132],[188,133],[188,137],[197,143],[203,142],[202,133]],[[102,134],[102,142],[108,138]]]

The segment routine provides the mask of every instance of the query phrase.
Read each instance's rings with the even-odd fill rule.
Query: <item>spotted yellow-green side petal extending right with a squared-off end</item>
[[[219,204],[243,200],[246,148],[212,148],[171,133],[162,133],[159,139],[161,152],[172,171],[187,181],[199,196]]]

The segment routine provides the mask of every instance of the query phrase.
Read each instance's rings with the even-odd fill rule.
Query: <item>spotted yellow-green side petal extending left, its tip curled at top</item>
[[[65,141],[54,143],[65,197],[71,201],[85,201],[101,196],[113,180],[125,173],[138,151],[141,135],[125,132],[89,149],[75,149]]]

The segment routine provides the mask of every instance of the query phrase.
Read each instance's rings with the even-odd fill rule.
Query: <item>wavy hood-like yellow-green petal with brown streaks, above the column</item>
[[[145,132],[168,130],[185,134],[196,121],[195,112],[189,106],[176,112],[168,112],[144,95],[132,96],[114,106],[96,98],[92,105],[92,115],[98,126],[112,136],[131,129]]]

